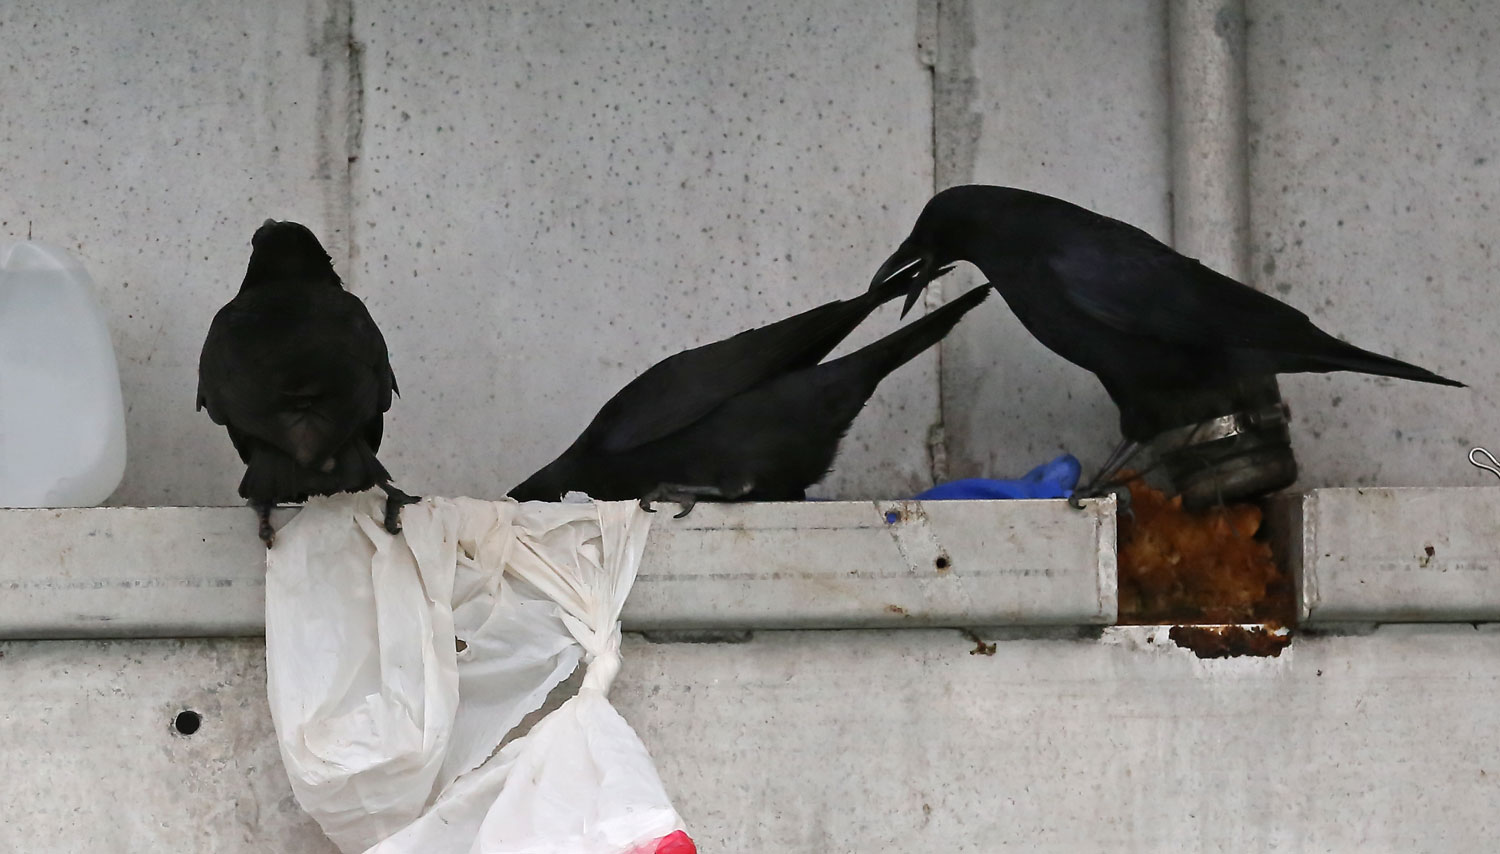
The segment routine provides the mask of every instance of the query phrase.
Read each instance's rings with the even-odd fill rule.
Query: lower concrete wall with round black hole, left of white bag
[[[282,770],[260,641],[0,644],[0,849],[338,854]]]

